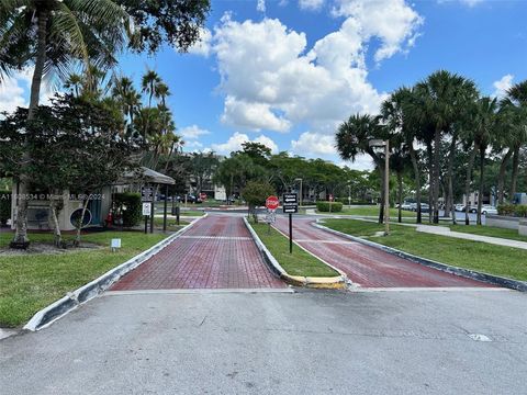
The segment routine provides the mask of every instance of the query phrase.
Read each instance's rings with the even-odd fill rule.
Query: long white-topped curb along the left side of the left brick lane
[[[139,255],[128,259],[126,262],[121,263],[120,266],[109,270],[98,279],[89,282],[86,285],[82,285],[81,287],[72,292],[69,292],[66,296],[59,298],[58,301],[38,311],[30,319],[30,321],[25,324],[24,329],[35,331],[35,330],[41,330],[48,327],[55,320],[64,317],[66,314],[68,314],[72,309],[92,300],[93,297],[99,295],[101,292],[109,289],[113,283],[115,283],[124,274],[134,270],[135,268],[137,268],[139,264],[142,264],[149,258],[154,257],[156,253],[162,250],[166,246],[168,246],[171,241],[178,238],[181,234],[190,229],[198,221],[204,217],[206,217],[206,215],[203,215],[202,217],[192,221],[189,225],[187,225],[182,229],[179,229],[173,235],[170,235],[167,238],[162,239],[161,241],[150,247],[146,251],[143,251]]]

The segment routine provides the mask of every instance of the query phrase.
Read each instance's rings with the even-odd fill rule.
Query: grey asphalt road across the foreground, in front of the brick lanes
[[[0,392],[519,394],[526,328],[505,290],[106,294],[0,341]]]

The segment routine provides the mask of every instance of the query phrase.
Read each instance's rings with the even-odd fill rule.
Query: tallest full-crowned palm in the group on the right
[[[415,87],[419,104],[415,110],[423,123],[434,127],[434,151],[431,161],[431,203],[434,223],[439,222],[439,174],[440,145],[442,136],[452,132],[455,122],[463,114],[468,102],[476,94],[472,81],[446,70],[439,70]],[[455,149],[455,147],[452,148]]]

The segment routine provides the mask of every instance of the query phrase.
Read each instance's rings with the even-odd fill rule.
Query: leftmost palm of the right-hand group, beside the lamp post
[[[369,155],[381,178],[381,207],[379,212],[379,223],[382,224],[384,217],[384,189],[389,188],[384,182],[384,156],[377,153],[370,146],[372,139],[386,139],[389,137],[386,128],[380,123],[379,116],[372,115],[351,115],[348,121],[343,122],[337,129],[336,147],[340,158],[355,161],[361,154]]]

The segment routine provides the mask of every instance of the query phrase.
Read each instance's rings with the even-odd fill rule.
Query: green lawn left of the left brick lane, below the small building
[[[49,234],[30,236],[32,241],[52,240]],[[103,232],[82,236],[82,241],[104,246],[100,249],[23,256],[0,253],[0,327],[25,324],[37,311],[67,292],[97,279],[165,237],[138,232]],[[0,247],[8,246],[11,238],[12,234],[0,234]],[[121,238],[119,252],[110,251],[111,238]]]

